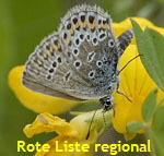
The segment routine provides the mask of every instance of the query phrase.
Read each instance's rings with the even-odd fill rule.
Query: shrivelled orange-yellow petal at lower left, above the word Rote
[[[27,124],[23,131],[27,137],[33,137],[33,135],[43,132],[57,132],[66,136],[78,136],[78,132],[68,122],[47,112],[38,115],[35,121]]]

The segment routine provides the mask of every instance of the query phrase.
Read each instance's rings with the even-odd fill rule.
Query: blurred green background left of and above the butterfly
[[[45,143],[55,134],[27,139],[22,129],[36,113],[24,108],[8,86],[9,71],[24,64],[35,46],[57,31],[60,17],[74,4],[87,2],[104,8],[114,22],[141,16],[164,26],[164,0],[0,0],[0,155],[30,156],[17,153],[16,141]]]

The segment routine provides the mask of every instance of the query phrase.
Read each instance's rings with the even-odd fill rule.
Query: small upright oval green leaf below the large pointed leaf
[[[149,122],[154,115],[156,104],[156,89],[152,91],[144,100],[142,106],[142,117],[145,122]]]

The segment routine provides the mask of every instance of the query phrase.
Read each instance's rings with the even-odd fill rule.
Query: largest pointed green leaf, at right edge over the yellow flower
[[[164,91],[164,36],[147,27],[144,32],[131,20],[141,61],[161,89]]]

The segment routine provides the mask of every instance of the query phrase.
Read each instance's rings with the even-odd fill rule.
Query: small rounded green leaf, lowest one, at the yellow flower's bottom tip
[[[129,133],[134,133],[143,128],[144,125],[139,121],[132,121],[127,124],[127,130]]]

